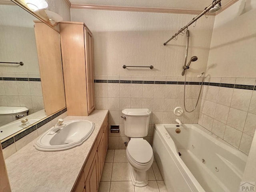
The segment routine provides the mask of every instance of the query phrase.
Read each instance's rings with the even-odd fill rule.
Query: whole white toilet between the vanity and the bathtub
[[[124,109],[124,134],[130,137],[126,156],[130,163],[130,178],[134,186],[148,184],[147,170],[152,166],[154,155],[150,144],[143,139],[148,135],[151,111],[149,109]]]

